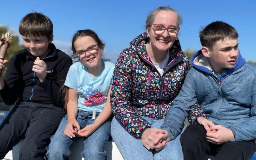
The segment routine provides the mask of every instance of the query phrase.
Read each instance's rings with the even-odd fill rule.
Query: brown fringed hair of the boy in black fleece
[[[46,36],[48,40],[53,35],[53,24],[50,18],[42,13],[28,13],[19,23],[19,33],[22,36]]]

